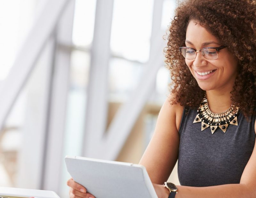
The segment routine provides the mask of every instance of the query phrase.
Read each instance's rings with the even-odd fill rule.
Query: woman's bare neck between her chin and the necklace
[[[209,108],[213,113],[221,113],[231,106],[230,92],[206,91]]]

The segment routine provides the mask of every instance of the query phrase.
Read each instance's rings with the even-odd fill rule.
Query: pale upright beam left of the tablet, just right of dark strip
[[[67,98],[70,85],[70,50],[58,48],[58,42],[72,44],[75,1],[69,1],[57,25],[57,49],[52,79],[51,104],[49,106],[48,131],[45,142],[44,170],[41,189],[60,194],[63,146],[66,131]]]

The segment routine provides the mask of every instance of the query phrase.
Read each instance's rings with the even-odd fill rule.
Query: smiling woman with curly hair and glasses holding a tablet
[[[256,197],[256,1],[186,0],[175,14],[171,94],[140,164],[158,197]],[[175,189],[163,183],[178,158]]]

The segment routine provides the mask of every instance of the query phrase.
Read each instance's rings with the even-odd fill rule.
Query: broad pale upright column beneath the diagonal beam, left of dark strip
[[[26,85],[26,113],[24,115],[24,124],[21,127],[23,146],[18,152],[18,170],[15,185],[19,188],[40,189],[42,185],[42,171],[45,163],[45,134],[52,86],[54,39],[55,37],[51,36],[44,47],[40,58],[36,62],[36,68],[33,70]],[[33,160],[31,160],[31,156],[33,156]]]

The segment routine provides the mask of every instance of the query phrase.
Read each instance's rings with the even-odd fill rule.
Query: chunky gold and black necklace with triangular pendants
[[[225,133],[229,124],[238,126],[236,117],[238,110],[239,107],[231,104],[231,107],[225,112],[213,113],[209,109],[208,100],[205,96],[197,109],[197,115],[193,123],[202,122],[201,131],[210,126],[212,134],[218,127]]]

